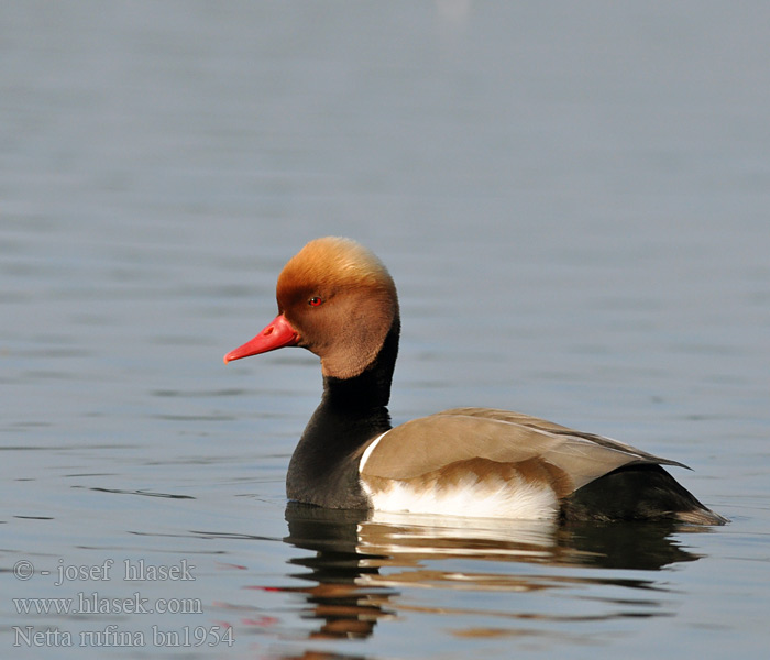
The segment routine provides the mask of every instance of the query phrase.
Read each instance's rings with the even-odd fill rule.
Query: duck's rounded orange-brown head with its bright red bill
[[[398,298],[382,262],[350,239],[323,238],[302,248],[278,276],[278,316],[224,362],[283,346],[321,359],[324,376],[351,378],[380,353],[398,322]]]

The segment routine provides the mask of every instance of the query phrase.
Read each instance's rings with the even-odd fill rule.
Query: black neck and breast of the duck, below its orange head
[[[391,428],[387,404],[399,328],[396,318],[377,358],[358,376],[324,376],[321,403],[289,463],[290,499],[332,508],[366,507],[359,485],[359,458],[372,439]]]

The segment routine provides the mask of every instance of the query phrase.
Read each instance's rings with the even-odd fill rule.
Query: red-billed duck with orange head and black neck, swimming
[[[345,238],[307,243],[280,272],[277,316],[224,356],[287,346],[320,359],[321,402],[289,461],[289,501],[472,518],[723,525],[663,469],[686,468],[520,413],[462,407],[394,426],[396,286]]]

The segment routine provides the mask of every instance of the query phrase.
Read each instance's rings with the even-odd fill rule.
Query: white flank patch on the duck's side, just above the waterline
[[[364,453],[362,465],[378,440]],[[372,506],[380,512],[538,520],[554,518],[559,509],[552,488],[521,477],[510,481],[487,477],[480,482],[471,474],[454,487],[438,485],[428,490],[394,480],[383,491],[372,488],[365,479],[361,481]]]

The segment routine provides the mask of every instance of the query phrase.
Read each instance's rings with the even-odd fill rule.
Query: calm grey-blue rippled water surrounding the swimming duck
[[[3,2],[0,654],[762,657],[769,21]],[[396,420],[605,433],[688,463],[732,524],[287,508],[316,360],[221,358],[324,234],[399,285]]]

